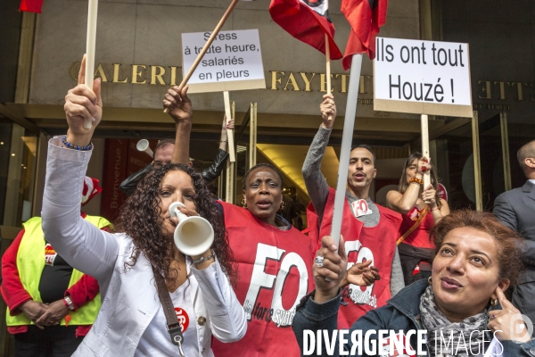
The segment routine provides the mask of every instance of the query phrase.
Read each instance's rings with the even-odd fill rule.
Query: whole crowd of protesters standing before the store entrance
[[[285,205],[302,203],[294,191],[284,199],[283,175],[268,163],[245,173],[243,207],[214,199],[207,183],[226,162],[232,123],[224,120],[214,164],[197,173],[187,87],[171,87],[163,107],[176,123],[175,140],[161,141],[152,164],[123,182],[128,199],[113,227],[80,215],[79,197],[94,182],[85,179],[91,138],[103,116],[100,79],[88,89],[84,71],[82,62],[78,86],[66,96],[69,129],[49,141],[42,218],[25,223],[2,259],[17,356],[298,356],[304,331],[337,328],[426,330],[427,355],[477,354],[493,337],[504,355],[535,351],[531,321],[518,318],[535,320],[535,141],[518,153],[528,181],[498,196],[494,214],[450,212],[436,168],[417,153],[387,207],[374,203],[375,154],[355,145],[350,162],[341,162],[349,166],[342,237],[334,244],[334,189],[320,170],[336,119],[333,95],[324,95],[303,162],[304,234],[295,227],[299,214]],[[202,253],[175,245],[175,202],[186,216],[210,222],[213,244]],[[465,350],[447,345],[444,352],[438,331],[456,341],[480,333]],[[353,344],[317,353],[343,354]]]

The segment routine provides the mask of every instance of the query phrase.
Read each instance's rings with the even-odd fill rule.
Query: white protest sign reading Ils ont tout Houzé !
[[[472,117],[468,44],[377,37],[374,111]]]

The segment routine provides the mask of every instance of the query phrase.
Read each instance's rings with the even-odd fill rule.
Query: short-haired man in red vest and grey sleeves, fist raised
[[[307,209],[309,237],[317,239],[318,248],[321,245],[321,237],[330,235],[333,220],[335,191],[329,187],[320,170],[336,117],[333,95],[324,95],[324,101],[319,108],[323,122],[309,147],[302,169],[310,196]],[[332,119],[329,120],[329,117]],[[399,213],[375,204],[369,196],[370,186],[377,173],[375,155],[371,147],[354,147],[349,164],[347,204],[344,205],[342,213],[342,237],[348,254],[348,270],[356,262],[372,260],[381,279],[374,281],[371,286],[342,286],[338,328],[350,328],[366,311],[383,306],[392,295],[404,287],[396,247],[401,217]]]

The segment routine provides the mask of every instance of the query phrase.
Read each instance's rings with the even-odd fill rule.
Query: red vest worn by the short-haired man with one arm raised
[[[312,203],[307,208],[309,220],[309,237],[317,240],[317,247],[321,246],[321,237],[331,234],[334,206],[333,188],[329,188],[325,213],[321,228],[318,231],[317,213]],[[348,269],[355,262],[372,259],[374,266],[379,269],[381,279],[372,286],[355,286],[350,284],[342,290],[342,304],[338,311],[338,328],[350,328],[353,323],[367,311],[381,307],[390,299],[391,266],[396,250],[396,239],[399,238],[401,216],[388,208],[376,204],[381,214],[379,224],[366,228],[364,223],[356,219],[350,210],[347,200],[343,205],[342,236],[345,240],[345,250],[348,254]]]

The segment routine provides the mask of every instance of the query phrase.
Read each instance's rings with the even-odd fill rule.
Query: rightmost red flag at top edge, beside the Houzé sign
[[[351,25],[342,60],[344,70],[351,67],[353,54],[375,58],[375,37],[386,22],[387,7],[388,0],[342,0],[342,13]]]

